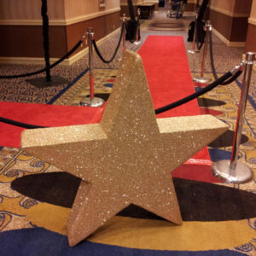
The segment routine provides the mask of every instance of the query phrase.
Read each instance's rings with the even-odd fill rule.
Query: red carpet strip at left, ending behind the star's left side
[[[43,104],[0,102],[0,116],[26,124],[41,126],[83,125],[97,123],[103,108],[80,108]],[[0,146],[20,148],[24,128],[0,122]]]

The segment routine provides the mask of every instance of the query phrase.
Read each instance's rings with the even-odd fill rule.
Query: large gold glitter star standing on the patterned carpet
[[[131,203],[182,224],[171,172],[225,130],[209,115],[155,119],[143,62],[127,51],[100,124],[26,130],[21,144],[83,179],[67,222],[74,246]]]

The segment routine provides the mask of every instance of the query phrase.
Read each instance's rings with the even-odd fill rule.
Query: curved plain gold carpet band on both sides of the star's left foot
[[[69,208],[49,203],[26,209],[20,207],[20,198],[5,198],[0,211],[9,211],[26,217],[32,224],[67,235]],[[116,216],[97,230],[89,241],[121,247],[154,250],[220,250],[238,247],[251,241],[255,230],[247,219],[219,222],[183,222],[177,226],[167,221]]]

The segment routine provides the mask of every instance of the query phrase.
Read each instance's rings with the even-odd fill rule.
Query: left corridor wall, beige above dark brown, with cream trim
[[[0,0],[1,62],[44,60],[41,4],[41,0]],[[72,49],[87,27],[97,27],[99,40],[120,25],[119,0],[106,0],[103,8],[98,0],[49,0],[48,15],[49,53],[53,59]]]

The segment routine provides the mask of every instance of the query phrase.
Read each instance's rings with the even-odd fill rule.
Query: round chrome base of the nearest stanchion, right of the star
[[[236,163],[236,175],[230,174],[230,160],[220,160],[212,165],[215,177],[223,179],[226,183],[247,183],[253,179],[252,170],[244,163]]]

